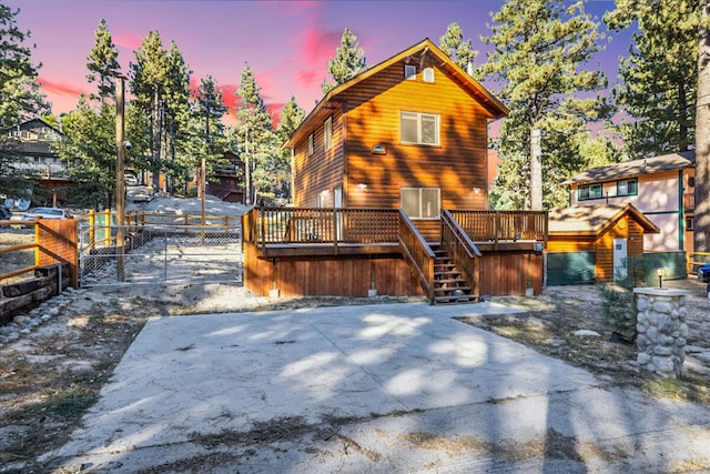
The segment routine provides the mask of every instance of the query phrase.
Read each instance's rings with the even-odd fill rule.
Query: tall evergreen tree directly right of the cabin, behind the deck
[[[481,38],[494,47],[483,72],[504,82],[498,94],[510,109],[496,185],[518,190],[508,192],[508,208],[558,205],[566,201],[559,182],[582,165],[577,135],[609,113],[604,98],[591,95],[606,87],[604,73],[584,69],[602,34],[581,1],[508,0],[493,20],[493,34]]]

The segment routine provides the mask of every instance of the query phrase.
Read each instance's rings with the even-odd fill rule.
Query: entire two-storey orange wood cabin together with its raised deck
[[[430,40],[329,91],[284,145],[293,209],[246,219],[256,293],[541,290],[544,212],[488,211],[488,123],[507,109]]]

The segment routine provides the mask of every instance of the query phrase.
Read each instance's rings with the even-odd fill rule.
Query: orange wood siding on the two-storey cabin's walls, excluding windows
[[[420,70],[416,80],[404,79],[399,61],[337,94],[328,109],[334,142],[328,153],[324,117],[314,117],[315,153],[307,157],[307,134],[295,148],[294,204],[315,205],[318,193],[327,189],[332,196],[342,185],[348,208],[397,209],[402,188],[438,188],[442,209],[487,209],[490,114],[437,64],[429,51],[424,67],[435,70],[434,83],[424,82]],[[402,111],[439,115],[440,143],[402,143]],[[373,154],[374,145],[385,147],[386,154]]]

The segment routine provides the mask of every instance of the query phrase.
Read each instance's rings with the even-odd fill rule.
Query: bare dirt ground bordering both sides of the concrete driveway
[[[710,302],[704,285],[693,279],[666,285],[692,292],[688,297],[688,343],[710,351]],[[376,301],[384,304],[409,300]],[[525,313],[467,319],[465,323],[585,367],[610,383],[710,406],[710,377],[693,371],[691,357],[686,376],[659,380],[639,369],[635,345],[610,341],[612,330],[602,317],[600,286],[557,286],[536,297],[491,301]],[[65,292],[34,310],[55,315],[18,341],[0,345],[0,473],[50,471],[37,462],[38,456],[68,441],[149,317],[372,303],[372,299],[343,297],[270,301],[240,286],[219,284]],[[442,306],[442,311],[446,307]],[[579,330],[595,331],[599,336],[575,335]],[[189,465],[181,467],[191,470]]]

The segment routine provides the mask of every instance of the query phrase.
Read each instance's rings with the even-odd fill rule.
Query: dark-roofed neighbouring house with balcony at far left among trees
[[[57,205],[57,189],[70,184],[67,164],[59,159],[52,147],[63,139],[63,134],[42,119],[22,122],[6,130],[6,134],[10,142],[14,142],[12,147],[21,157],[13,167],[37,179],[39,185],[51,193],[51,204]]]

